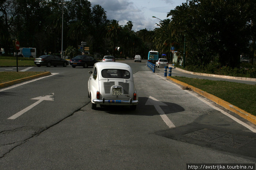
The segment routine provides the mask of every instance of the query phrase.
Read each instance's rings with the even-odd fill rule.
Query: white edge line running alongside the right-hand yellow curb
[[[162,76],[160,76],[160,75],[158,75],[158,76],[162,78]],[[166,78],[162,78],[162,79],[166,80],[166,81],[169,82],[169,83],[172,83],[170,80],[167,80]],[[175,84],[175,83],[172,83],[172,84],[174,84],[175,86],[181,88],[180,86],[178,86],[178,85]],[[247,129],[251,130],[252,132],[256,133],[256,129],[254,129],[253,127],[251,127],[249,124],[246,124],[246,123],[242,122],[241,120],[239,120],[239,119],[237,119],[236,117],[230,115],[229,113],[227,113],[227,112],[221,110],[220,108],[218,108],[218,107],[212,105],[211,103],[207,102],[206,100],[204,100],[204,99],[202,99],[202,98],[196,96],[196,95],[193,94],[192,92],[190,92],[190,91],[188,91],[188,90],[186,90],[186,92],[188,92],[189,94],[195,96],[197,99],[199,99],[199,100],[201,100],[202,102],[206,103],[208,106],[214,108],[215,110],[218,110],[218,111],[222,112],[224,115],[226,115],[226,116],[228,116],[229,118],[233,119],[234,121],[236,121],[237,123],[239,123],[239,124],[241,124],[242,126],[246,127]]]

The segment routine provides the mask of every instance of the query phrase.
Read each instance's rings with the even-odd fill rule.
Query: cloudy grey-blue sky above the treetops
[[[91,5],[99,4],[105,9],[109,20],[117,20],[120,25],[132,21],[133,31],[146,28],[153,30],[159,19],[164,20],[167,13],[187,0],[89,0]],[[159,19],[153,18],[158,17]],[[170,17],[169,17],[170,18]]]

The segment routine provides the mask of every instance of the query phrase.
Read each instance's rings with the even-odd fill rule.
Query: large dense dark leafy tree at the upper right
[[[217,57],[223,66],[236,67],[251,40],[248,12],[242,0],[191,0],[167,16],[172,15],[174,29],[186,36],[191,64],[206,66]]]

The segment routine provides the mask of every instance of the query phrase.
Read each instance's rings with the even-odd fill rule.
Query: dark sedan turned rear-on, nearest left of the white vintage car
[[[78,55],[75,56],[73,59],[69,60],[69,64],[73,68],[75,68],[76,66],[82,66],[83,68],[87,68],[93,66],[94,63],[97,62],[99,61],[88,55]]]

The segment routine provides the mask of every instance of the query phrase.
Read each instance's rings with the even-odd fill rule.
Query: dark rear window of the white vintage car
[[[101,71],[103,78],[120,78],[120,79],[129,79],[130,72],[127,70],[121,69],[104,69]]]

